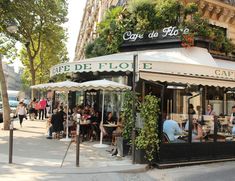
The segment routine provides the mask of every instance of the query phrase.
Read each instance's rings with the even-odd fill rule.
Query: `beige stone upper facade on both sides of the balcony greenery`
[[[84,59],[87,43],[97,37],[97,24],[102,21],[104,12],[111,6],[125,5],[128,0],[87,0],[81,28],[78,35],[75,60]],[[235,43],[235,0],[181,0],[184,3],[198,4],[205,18],[210,23],[226,28],[228,38]]]

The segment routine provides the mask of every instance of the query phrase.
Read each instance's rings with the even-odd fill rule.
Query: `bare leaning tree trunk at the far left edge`
[[[6,80],[5,75],[3,72],[3,66],[2,66],[2,57],[0,54],[0,82],[1,82],[1,95],[2,95],[2,105],[3,105],[3,122],[4,130],[9,130],[10,128],[10,106],[8,102],[8,94],[7,94],[7,86],[6,86]]]

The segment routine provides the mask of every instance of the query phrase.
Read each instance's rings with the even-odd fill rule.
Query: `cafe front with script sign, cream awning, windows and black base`
[[[109,79],[132,86],[135,70],[136,91],[141,97],[151,94],[160,99],[158,164],[234,159],[230,115],[235,105],[235,62],[214,57],[207,40],[195,38],[194,46],[182,47],[176,38],[179,31],[187,34],[189,30],[166,27],[146,35],[126,32],[122,52],[58,64],[51,68],[50,75],[70,74],[78,82]],[[120,113],[122,96],[106,94],[106,111]],[[79,104],[81,95],[73,96],[73,104]],[[100,97],[90,91],[83,100],[100,107]],[[208,104],[213,106],[215,116],[206,115]],[[189,105],[195,109],[193,115],[189,114]],[[163,133],[166,119],[176,121],[184,130],[184,135],[176,135],[182,141],[171,142]],[[193,120],[202,123],[203,137],[199,140],[192,137]]]

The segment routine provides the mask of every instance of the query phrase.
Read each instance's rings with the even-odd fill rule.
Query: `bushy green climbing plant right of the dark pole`
[[[140,105],[140,115],[144,120],[144,126],[136,137],[136,162],[138,160],[140,162],[144,161],[141,159],[144,151],[146,160],[151,163],[159,151],[158,116],[160,109],[158,103],[158,98],[153,95],[147,95],[144,98],[144,103]],[[138,154],[141,158],[137,158]]]

